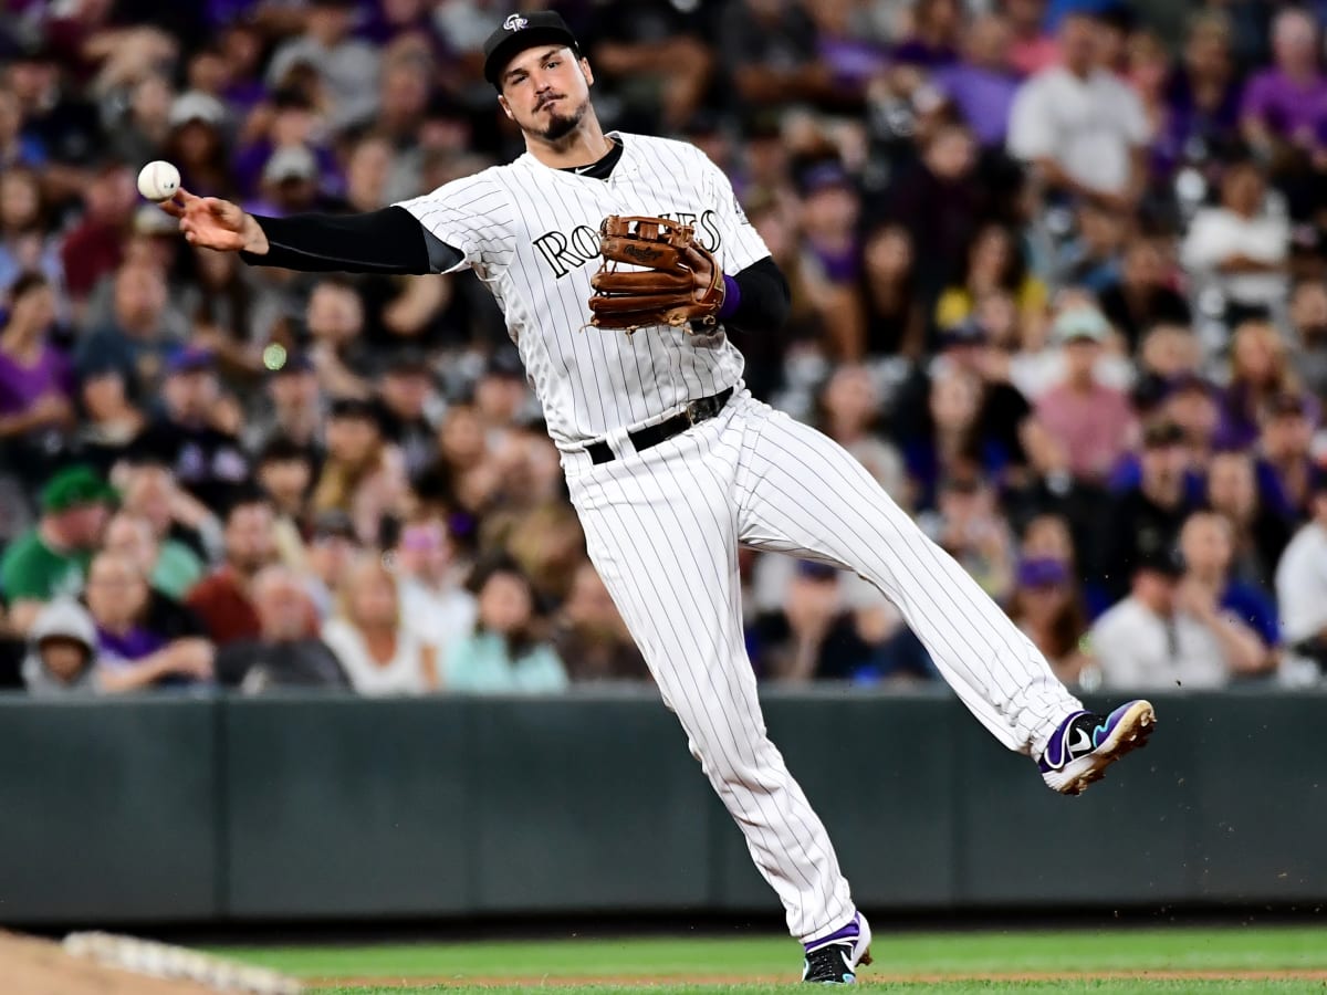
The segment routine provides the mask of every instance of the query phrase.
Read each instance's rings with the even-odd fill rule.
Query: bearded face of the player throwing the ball
[[[569,48],[532,48],[507,65],[498,100],[527,135],[556,142],[585,117],[592,82],[589,62]]]

